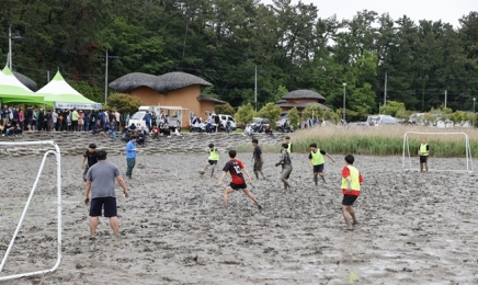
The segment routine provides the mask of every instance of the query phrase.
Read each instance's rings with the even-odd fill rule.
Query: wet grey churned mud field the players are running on
[[[209,140],[198,140],[201,151]],[[82,149],[84,141],[61,147],[80,151],[75,147]],[[109,159],[124,173],[123,147],[112,148],[116,155]],[[158,148],[168,147],[174,146]],[[473,173],[422,174],[402,171],[398,157],[357,156],[355,166],[365,179],[356,203],[360,225],[345,231],[340,212],[341,155],[333,155],[337,163],[326,161],[327,183],[315,187],[307,155],[295,153],[294,187],[285,194],[277,181],[280,169],[274,167],[277,155],[266,153],[269,180],[250,183],[264,207],[259,212],[239,192],[231,195],[228,209],[223,207],[224,187],[215,186],[219,171],[214,178],[210,172],[197,173],[207,153],[146,149],[138,156],[133,180],[127,180],[130,196],[123,197],[117,187],[120,240],[112,239],[104,218],[99,238],[89,240],[82,157],[64,156],[61,264],[54,273],[3,284],[478,283],[478,198]],[[3,150],[0,157],[0,256],[36,176],[42,160],[36,152],[15,147],[15,153],[27,155],[10,156]],[[238,158],[252,172],[251,153]],[[226,160],[221,152],[219,166]],[[464,160],[431,159],[430,163],[463,169]],[[50,158],[1,276],[55,264],[55,170]]]

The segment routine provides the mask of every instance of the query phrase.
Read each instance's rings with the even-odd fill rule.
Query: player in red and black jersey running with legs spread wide
[[[244,172],[248,175],[249,182],[251,182],[251,175],[249,175],[249,172],[242,164],[242,161],[236,159],[236,155],[237,155],[236,150],[229,150],[229,161],[224,167],[223,175],[220,176],[219,182],[217,183],[217,186],[219,187],[223,184],[223,180],[226,178],[227,172],[230,173],[232,182],[230,182],[230,184],[226,187],[226,191],[224,192],[224,206],[227,208],[229,194],[231,194],[235,190],[242,190],[244,194],[248,195],[248,197],[250,197],[255,203],[255,205],[258,205],[258,208],[262,209],[262,206],[259,204],[254,194],[252,194],[248,190],[248,185],[246,185],[246,180],[242,172]]]

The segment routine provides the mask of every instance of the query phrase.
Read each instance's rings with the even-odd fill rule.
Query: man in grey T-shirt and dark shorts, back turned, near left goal
[[[113,235],[118,237],[118,221],[116,213],[116,193],[114,191],[115,179],[123,189],[125,197],[128,190],[120,173],[120,169],[112,162],[106,161],[106,150],[96,151],[98,162],[87,172],[87,185],[84,187],[84,203],[90,202],[90,238],[94,238],[96,227],[100,221],[102,208],[104,206],[104,217],[110,218],[110,226]]]

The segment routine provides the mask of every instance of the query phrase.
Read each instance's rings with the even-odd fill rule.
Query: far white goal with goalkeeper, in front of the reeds
[[[429,169],[429,170],[434,170],[434,171],[455,171],[455,172],[473,172],[474,171],[474,167],[473,167],[473,159],[471,159],[471,149],[469,147],[469,138],[468,135],[465,133],[422,133],[422,132],[407,132],[403,135],[403,156],[401,158],[401,167],[405,170],[406,169],[406,155],[408,156],[408,170],[412,170],[411,168],[411,156],[410,156],[410,145],[409,145],[409,135],[420,135],[421,137],[430,137],[430,136],[460,136],[463,137],[464,141],[463,144],[465,145],[465,160],[466,160],[466,169]],[[417,153],[417,149],[419,146],[414,147],[412,149],[413,153]],[[433,148],[433,146],[432,146]],[[433,149],[432,149],[433,151]],[[418,164],[418,163],[416,163]]]

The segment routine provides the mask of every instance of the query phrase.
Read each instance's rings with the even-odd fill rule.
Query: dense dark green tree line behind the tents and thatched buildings
[[[59,69],[82,94],[104,101],[107,81],[129,72],[184,71],[232,106],[258,109],[288,91],[314,90],[326,105],[364,119],[387,100],[407,110],[471,111],[478,91],[478,12],[459,26],[358,11],[321,19],[320,7],[291,0],[4,0],[0,60],[8,30],[13,70],[39,87]],[[106,59],[106,50],[109,57]],[[385,81],[387,83],[385,84]],[[344,87],[343,83],[346,86]]]

